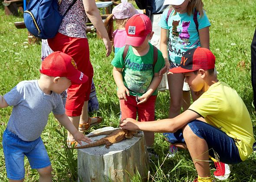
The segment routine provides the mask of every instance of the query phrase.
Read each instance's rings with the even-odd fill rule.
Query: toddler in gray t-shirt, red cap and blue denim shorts
[[[4,96],[0,107],[13,106],[12,114],[3,133],[3,153],[9,181],[23,181],[24,156],[32,169],[39,172],[39,181],[52,181],[52,167],[40,137],[50,112],[74,136],[89,143],[91,140],[71,123],[59,96],[69,88],[71,81],[85,83],[88,77],[77,70],[75,61],[63,52],[53,52],[42,62],[39,80],[21,81]],[[32,127],[33,126],[33,127]]]

